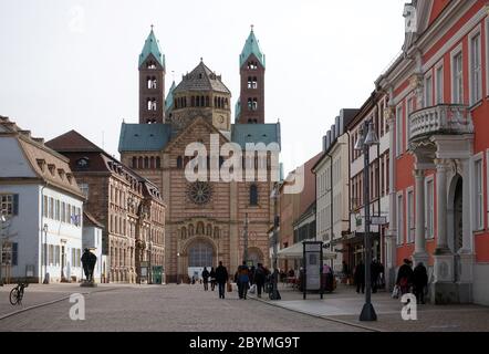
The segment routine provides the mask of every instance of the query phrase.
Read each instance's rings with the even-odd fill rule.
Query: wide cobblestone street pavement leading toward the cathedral
[[[0,290],[1,313],[19,310]],[[32,285],[23,308],[43,301],[85,295],[85,321],[72,321],[69,299],[0,320],[0,331],[179,331],[179,332],[352,332],[362,329],[278,309],[227,293],[205,292],[201,285],[101,285],[86,290],[76,284]],[[8,305],[6,305],[8,304]],[[10,308],[9,308],[10,306]]]

